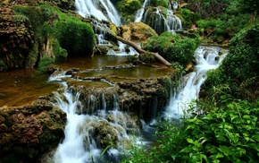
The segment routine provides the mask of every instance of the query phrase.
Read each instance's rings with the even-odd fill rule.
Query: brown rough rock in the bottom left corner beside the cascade
[[[63,138],[66,115],[46,99],[0,107],[0,162],[36,161]]]

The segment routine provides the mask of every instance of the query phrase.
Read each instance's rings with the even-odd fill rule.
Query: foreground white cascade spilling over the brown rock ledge
[[[56,75],[50,81],[60,82],[61,76]],[[63,92],[54,92],[53,105],[67,114],[67,124],[65,138],[54,154],[55,163],[119,162],[122,151],[132,143],[141,144],[138,118],[121,111],[118,95],[113,94],[110,99],[104,93],[90,95],[84,106],[79,92],[70,90],[66,82],[60,83]],[[102,154],[106,147],[108,150]]]

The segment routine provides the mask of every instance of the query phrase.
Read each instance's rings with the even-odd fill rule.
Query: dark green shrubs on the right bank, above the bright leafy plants
[[[259,25],[252,25],[231,40],[230,54],[217,70],[208,73],[203,97],[220,100],[222,93],[235,98],[255,100],[258,98]]]

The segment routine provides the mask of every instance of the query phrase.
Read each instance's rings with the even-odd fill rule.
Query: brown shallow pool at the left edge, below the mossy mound
[[[34,69],[0,73],[0,107],[22,106],[57,90],[59,85],[47,78]]]

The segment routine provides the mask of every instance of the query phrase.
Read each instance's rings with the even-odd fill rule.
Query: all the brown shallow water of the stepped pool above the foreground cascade
[[[100,69],[107,66],[124,65],[125,56],[94,56],[69,58],[66,63],[54,64],[64,71],[79,68],[80,71]],[[172,73],[173,69],[162,64],[138,65],[129,68],[106,69],[77,73],[81,78],[103,77],[108,82],[133,82],[140,78],[152,78]],[[31,103],[40,96],[50,94],[60,88],[57,82],[47,82],[48,76],[38,74],[34,69],[22,69],[7,73],[0,73],[0,107],[22,106]],[[75,81],[67,79],[70,85],[79,84],[85,87],[111,87],[107,82]]]

